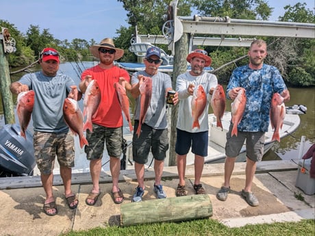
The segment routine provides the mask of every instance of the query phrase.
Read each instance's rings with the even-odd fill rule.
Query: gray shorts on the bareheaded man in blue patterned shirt
[[[238,136],[231,137],[233,125],[227,132],[227,144],[225,144],[225,155],[227,157],[237,157],[244,141],[246,140],[246,155],[252,161],[261,161],[264,155],[264,132],[242,132],[238,131]]]

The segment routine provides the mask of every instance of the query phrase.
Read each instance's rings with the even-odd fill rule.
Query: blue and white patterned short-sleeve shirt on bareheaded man
[[[246,90],[247,103],[240,124],[239,131],[257,132],[268,131],[269,111],[272,96],[275,92],[286,90],[279,70],[275,66],[263,64],[260,70],[253,70],[249,66],[236,68],[229,84],[226,96],[229,98],[229,90],[242,87]]]

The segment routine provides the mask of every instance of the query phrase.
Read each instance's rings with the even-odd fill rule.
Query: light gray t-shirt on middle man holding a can
[[[134,73],[131,77],[131,85],[139,82],[138,75],[152,78],[152,97],[147,110],[144,123],[153,129],[166,129],[168,127],[166,119],[166,88],[172,88],[171,77],[165,73],[157,72],[156,75],[149,75],[144,70]],[[134,119],[139,120],[140,116],[140,96],[136,98]]]

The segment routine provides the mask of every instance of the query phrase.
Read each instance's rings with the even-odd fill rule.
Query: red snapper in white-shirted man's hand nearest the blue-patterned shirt
[[[223,130],[221,118],[223,118],[225,112],[225,92],[223,86],[218,84],[214,89],[211,97],[211,107],[213,109],[214,116],[216,116],[216,127],[221,127]]]

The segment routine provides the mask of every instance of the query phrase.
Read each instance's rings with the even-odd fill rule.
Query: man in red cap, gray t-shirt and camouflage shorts
[[[58,71],[58,51],[52,48],[43,49],[39,63],[42,70],[24,75],[11,84],[10,90],[14,94],[34,91],[34,155],[46,193],[43,210],[47,215],[56,215],[58,209],[53,196],[53,166],[56,156],[68,207],[75,209],[79,204],[77,196],[71,190],[71,168],[75,159],[73,134],[68,133],[62,107],[67,96],[79,100],[81,92],[72,90],[71,86],[75,86],[73,79]]]

